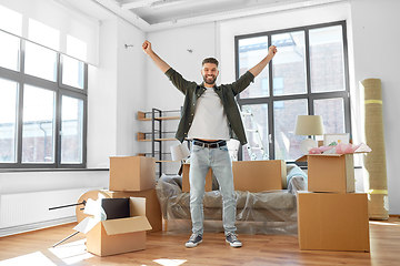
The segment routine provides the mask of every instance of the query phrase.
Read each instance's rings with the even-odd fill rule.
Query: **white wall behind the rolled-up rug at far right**
[[[389,213],[400,214],[400,178],[396,168],[400,160],[400,1],[351,0],[354,48],[354,80],[381,79],[383,127],[388,171]],[[358,88],[359,89],[359,88]],[[363,101],[363,99],[360,99]]]

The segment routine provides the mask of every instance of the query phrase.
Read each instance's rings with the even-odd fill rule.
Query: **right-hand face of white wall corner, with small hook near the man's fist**
[[[144,32],[124,20],[118,20],[117,35],[117,151],[116,155],[140,152],[136,132],[140,126],[139,110],[146,110],[146,54],[141,50]],[[126,48],[124,44],[133,45]]]

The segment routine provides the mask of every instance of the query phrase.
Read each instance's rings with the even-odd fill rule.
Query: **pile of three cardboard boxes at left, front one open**
[[[146,232],[162,229],[160,203],[156,194],[156,160],[144,156],[110,157],[109,191],[101,191],[112,203],[111,213],[102,207],[106,221],[87,217],[77,227],[87,234],[87,250],[108,256],[146,249]],[[119,201],[123,200],[126,201]],[[121,212],[116,204],[123,202]],[[117,213],[116,217],[114,216]],[[118,216],[124,213],[122,216]],[[94,217],[96,218],[96,217]]]

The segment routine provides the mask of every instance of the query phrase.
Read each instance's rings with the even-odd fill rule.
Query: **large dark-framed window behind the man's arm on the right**
[[[294,135],[297,115],[322,115],[327,134],[351,132],[346,22],[236,37],[237,78],[267,55],[269,43],[278,54],[238,96],[248,136],[241,158],[300,157],[306,136]]]

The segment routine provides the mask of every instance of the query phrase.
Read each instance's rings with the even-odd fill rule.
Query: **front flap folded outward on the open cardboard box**
[[[152,229],[146,216],[102,221],[108,235]]]

